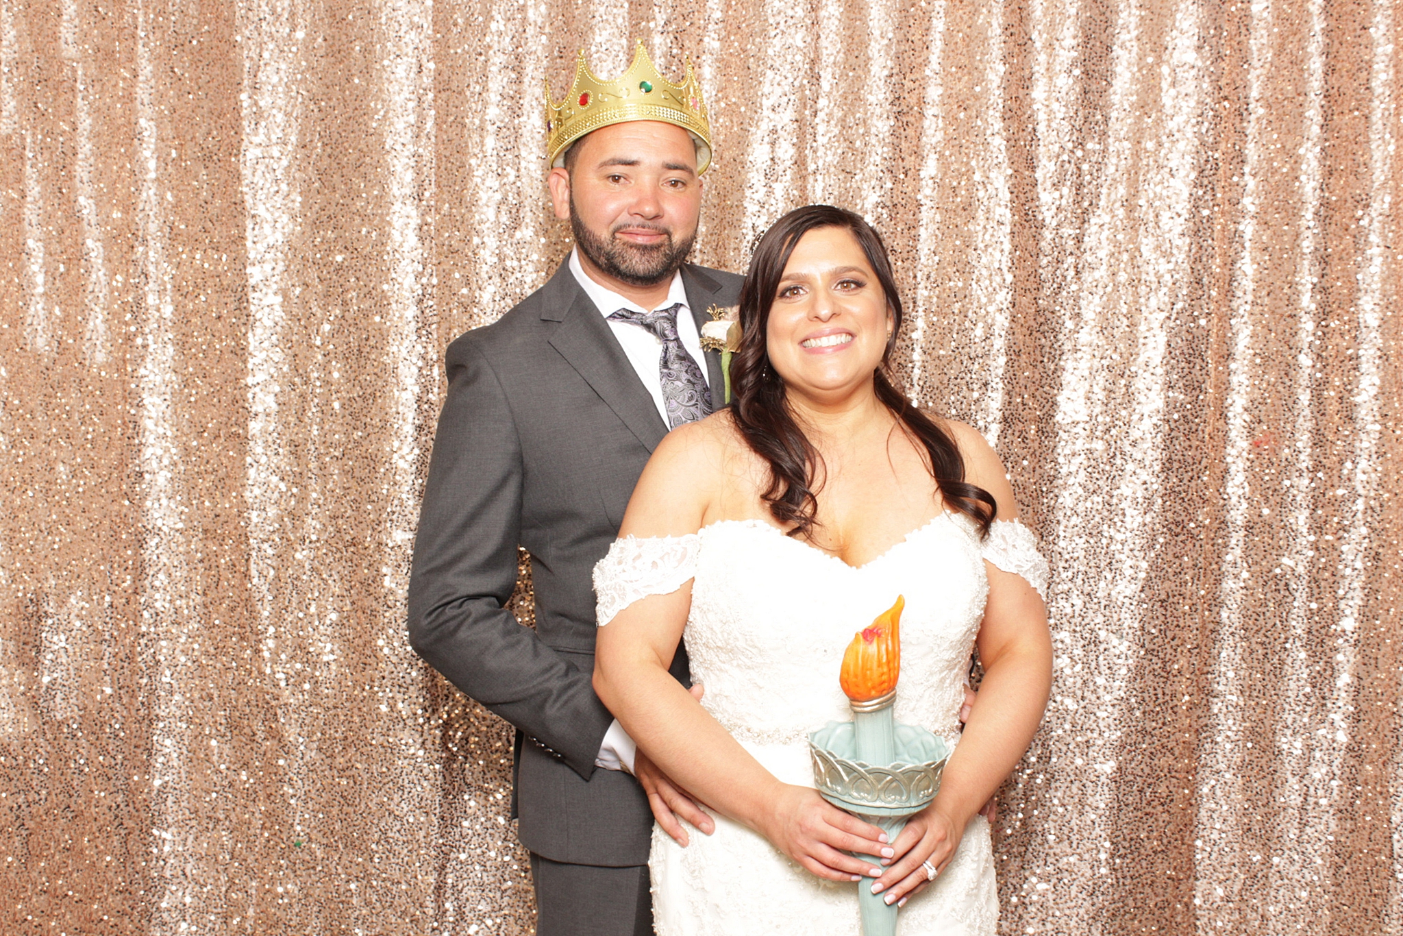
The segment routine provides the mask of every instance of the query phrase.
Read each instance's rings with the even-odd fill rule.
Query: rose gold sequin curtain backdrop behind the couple
[[[641,36],[697,258],[871,218],[1052,560],[1002,930],[1403,933],[1400,17],[0,0],[0,930],[532,930],[404,588],[442,349],[567,248],[542,81]]]

